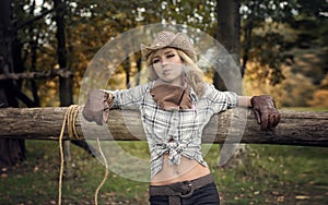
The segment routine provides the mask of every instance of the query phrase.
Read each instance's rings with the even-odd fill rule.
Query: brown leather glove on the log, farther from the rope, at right
[[[276,108],[274,100],[269,95],[254,96],[250,99],[253,112],[260,124],[261,130],[269,130],[280,121],[280,113]]]

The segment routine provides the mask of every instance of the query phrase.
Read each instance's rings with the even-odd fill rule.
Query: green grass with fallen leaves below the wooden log
[[[141,142],[119,143],[125,150],[148,158]],[[208,145],[206,145],[208,146]],[[0,204],[57,204],[58,143],[26,141],[27,160],[2,172]],[[243,165],[216,168],[219,146],[207,156],[222,197],[222,204],[327,204],[328,167],[325,147],[249,145]],[[62,204],[94,204],[94,192],[105,173],[104,166],[72,146],[72,176],[63,178]],[[148,204],[148,183],[109,172],[98,204]]]

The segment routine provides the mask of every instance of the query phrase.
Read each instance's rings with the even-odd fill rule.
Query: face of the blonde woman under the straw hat
[[[165,83],[181,86],[184,63],[177,50],[163,48],[154,52],[153,68],[157,76]]]

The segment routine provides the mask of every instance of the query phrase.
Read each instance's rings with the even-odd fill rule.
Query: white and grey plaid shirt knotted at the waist
[[[130,89],[112,92],[115,96],[113,108],[137,108],[141,112],[151,154],[151,177],[162,170],[165,153],[168,153],[168,165],[179,165],[183,155],[208,166],[201,154],[202,130],[212,114],[236,107],[237,95],[220,92],[207,83],[201,98],[191,89],[192,109],[163,110],[150,95],[153,85],[154,82],[150,82]]]

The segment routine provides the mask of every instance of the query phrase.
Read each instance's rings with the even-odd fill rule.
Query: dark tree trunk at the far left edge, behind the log
[[[0,1],[0,74],[14,72],[13,63],[13,29],[11,25],[11,1]],[[0,108],[17,107],[15,98],[15,82],[12,80],[0,82]],[[24,140],[0,140],[0,172],[25,159]]]

